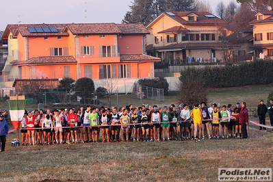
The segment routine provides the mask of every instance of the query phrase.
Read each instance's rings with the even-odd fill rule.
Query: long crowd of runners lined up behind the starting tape
[[[100,107],[25,112],[21,122],[23,145],[88,142],[159,142],[220,138],[247,138],[246,103],[235,108],[205,102],[142,107]],[[222,132],[220,133],[221,130]],[[101,138],[100,138],[101,136]],[[25,143],[26,142],[26,143]]]

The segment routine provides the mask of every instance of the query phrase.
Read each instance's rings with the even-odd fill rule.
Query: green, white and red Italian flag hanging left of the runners
[[[19,129],[25,113],[25,100],[10,100],[8,101],[8,105],[10,107],[12,125],[14,129]]]

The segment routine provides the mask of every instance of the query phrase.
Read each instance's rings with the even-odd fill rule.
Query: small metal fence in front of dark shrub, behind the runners
[[[164,89],[163,88],[151,88],[147,86],[135,86],[136,94],[140,100],[153,99],[159,102],[164,101]],[[142,101],[141,101],[142,102]]]

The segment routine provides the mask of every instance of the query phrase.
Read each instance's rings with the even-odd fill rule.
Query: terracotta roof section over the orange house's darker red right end
[[[150,34],[150,32],[140,23],[117,24],[122,34]]]

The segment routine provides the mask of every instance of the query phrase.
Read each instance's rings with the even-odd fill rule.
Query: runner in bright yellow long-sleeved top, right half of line
[[[203,119],[201,109],[198,107],[198,103],[194,104],[194,109],[192,110],[192,113],[190,114],[190,116],[194,118],[194,141],[197,142],[196,134],[197,134],[197,130],[199,130],[198,141],[200,142],[201,123],[202,123],[202,120],[204,119]]]

